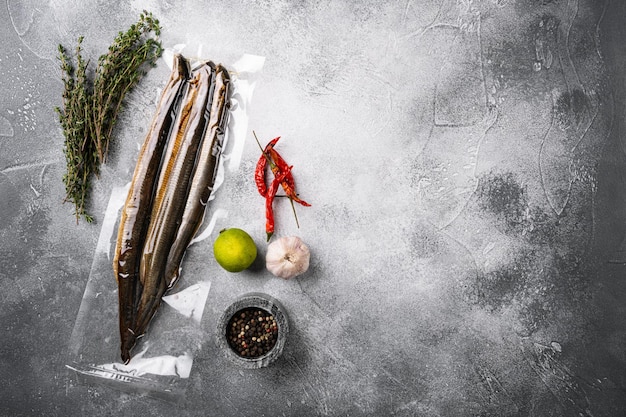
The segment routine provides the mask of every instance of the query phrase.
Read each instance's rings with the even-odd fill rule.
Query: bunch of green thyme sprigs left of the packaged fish
[[[159,21],[144,11],[126,32],[119,32],[106,54],[98,58],[93,77],[88,77],[89,61],[82,56],[83,37],[75,49],[76,63],[59,45],[63,80],[63,106],[55,107],[65,137],[67,164],[63,175],[65,199],[74,204],[76,222],[80,217],[90,223],[86,211],[91,179],[106,162],[113,128],[124,97],[154,67],[163,48],[158,36]],[[156,37],[153,38],[152,35]]]

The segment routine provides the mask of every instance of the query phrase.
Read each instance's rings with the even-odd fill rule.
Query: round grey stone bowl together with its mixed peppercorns
[[[263,368],[283,351],[289,324],[274,297],[249,293],[237,298],[218,321],[218,344],[228,359],[247,368]]]

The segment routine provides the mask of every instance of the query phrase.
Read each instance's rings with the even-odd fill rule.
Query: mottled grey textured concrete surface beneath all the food
[[[210,242],[190,249],[189,273],[212,285],[209,337],[179,404],[64,367],[98,222],[169,71],[161,62],[129,98],[96,223],[76,225],[56,45],[82,34],[96,57],[144,8],[166,45],[266,57],[249,128],[282,135],[313,204],[300,229],[277,209],[279,233],[312,250],[295,280],[232,276]],[[7,0],[0,21],[0,414],[626,413],[622,1]],[[215,204],[264,254],[248,139]],[[281,300],[292,333],[274,365],[240,371],[211,331],[253,290]]]

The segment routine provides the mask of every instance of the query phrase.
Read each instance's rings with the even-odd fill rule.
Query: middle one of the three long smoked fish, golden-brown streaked
[[[165,154],[139,271],[143,292],[137,311],[138,335],[146,331],[167,289],[165,265],[181,224],[198,149],[209,121],[214,75],[212,63],[194,70],[180,126]]]

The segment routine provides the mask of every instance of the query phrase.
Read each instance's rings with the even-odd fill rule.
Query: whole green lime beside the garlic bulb
[[[213,255],[228,272],[241,272],[256,259],[256,244],[245,231],[224,229],[213,243]]]

